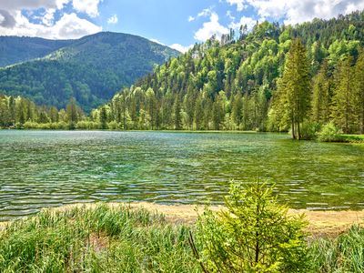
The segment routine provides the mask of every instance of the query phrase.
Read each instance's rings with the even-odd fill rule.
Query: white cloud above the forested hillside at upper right
[[[261,17],[283,18],[285,24],[310,21],[315,17],[329,19],[364,9],[364,0],[226,0],[242,11],[249,5]]]

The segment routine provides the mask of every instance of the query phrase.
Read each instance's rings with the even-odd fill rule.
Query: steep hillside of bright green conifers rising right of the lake
[[[363,12],[251,32],[243,25],[158,66],[91,119],[124,129],[298,132],[333,121],[363,133],[363,43]]]

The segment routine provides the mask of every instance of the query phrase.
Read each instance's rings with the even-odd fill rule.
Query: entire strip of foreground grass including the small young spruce
[[[363,271],[364,228],[353,226],[337,238],[310,237],[304,217],[289,216],[271,190],[233,184],[227,208],[205,210],[197,224],[125,205],[45,210],[3,226],[0,270]]]

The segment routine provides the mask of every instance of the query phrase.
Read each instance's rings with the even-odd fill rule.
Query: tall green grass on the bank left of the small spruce
[[[198,272],[188,231],[124,206],[45,211],[0,233],[0,272]]]

